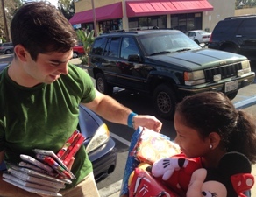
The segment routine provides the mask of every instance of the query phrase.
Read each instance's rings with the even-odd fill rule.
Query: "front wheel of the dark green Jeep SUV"
[[[161,84],[155,88],[153,93],[153,102],[160,116],[164,118],[173,118],[176,105],[176,96],[174,90],[166,84]]]

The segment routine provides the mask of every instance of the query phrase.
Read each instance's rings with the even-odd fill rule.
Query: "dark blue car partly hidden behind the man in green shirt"
[[[105,123],[94,112],[79,107],[80,116],[77,129],[86,138],[83,145],[89,154],[93,165],[96,182],[99,182],[114,172],[117,164],[117,148],[110,137],[110,131]],[[5,171],[4,162],[0,164],[0,171]]]

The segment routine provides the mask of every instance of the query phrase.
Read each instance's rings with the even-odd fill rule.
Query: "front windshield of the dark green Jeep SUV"
[[[153,33],[142,36],[139,40],[145,49],[146,55],[174,53],[201,48],[201,46],[198,46],[196,42],[189,39],[182,32]]]

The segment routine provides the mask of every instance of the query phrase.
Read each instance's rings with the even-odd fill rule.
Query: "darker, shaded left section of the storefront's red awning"
[[[109,4],[95,9],[96,20],[123,18],[122,2],[116,4]],[[72,25],[93,22],[93,11],[81,11],[69,20]]]

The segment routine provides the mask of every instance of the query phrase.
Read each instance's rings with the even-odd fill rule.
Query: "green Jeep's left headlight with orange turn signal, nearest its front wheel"
[[[185,85],[194,86],[205,83],[205,77],[203,70],[197,70],[193,72],[184,72]]]

